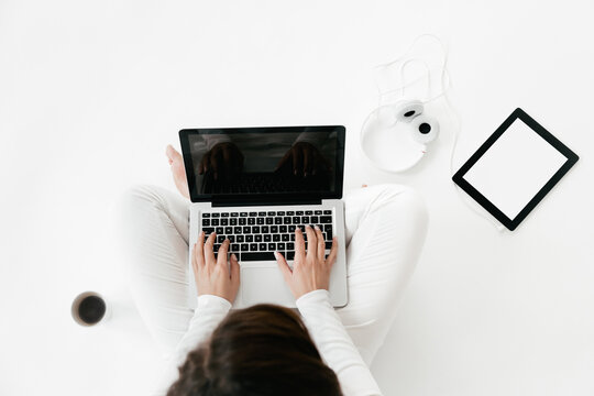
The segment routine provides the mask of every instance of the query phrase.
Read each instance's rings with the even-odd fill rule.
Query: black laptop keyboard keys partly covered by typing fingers
[[[278,210],[278,211],[211,211],[201,213],[205,238],[217,234],[213,250],[218,252],[226,239],[231,242],[229,253],[239,261],[275,261],[274,252],[283,253],[286,260],[295,257],[295,230],[318,226],[323,234],[327,254],[332,248],[333,215],[329,209]]]

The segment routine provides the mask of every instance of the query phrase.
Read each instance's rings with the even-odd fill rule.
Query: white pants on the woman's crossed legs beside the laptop
[[[422,199],[400,185],[343,198],[349,304],[338,309],[371,364],[389,330],[427,232]],[[119,202],[119,230],[131,292],[151,334],[168,355],[194,314],[188,306],[190,202],[161,187],[134,187]]]

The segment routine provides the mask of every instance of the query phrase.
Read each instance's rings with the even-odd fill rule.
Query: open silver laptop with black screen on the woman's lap
[[[342,184],[344,127],[262,127],[179,131],[190,193],[189,263],[200,231],[217,234],[215,252],[230,240],[241,267],[234,308],[255,304],[296,307],[274,252],[293,267],[295,230],[319,226],[330,252],[334,307],[348,302]],[[304,234],[305,235],[305,234]],[[306,238],[307,246],[307,238]],[[196,285],[190,282],[193,296]]]

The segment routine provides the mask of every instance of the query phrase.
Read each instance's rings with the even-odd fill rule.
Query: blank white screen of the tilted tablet
[[[516,119],[464,179],[514,220],[566,161],[524,121]]]

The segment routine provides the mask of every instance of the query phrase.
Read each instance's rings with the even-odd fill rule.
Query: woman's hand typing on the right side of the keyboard
[[[330,285],[330,272],[337,261],[338,241],[332,238],[332,249],[326,258],[326,243],[321,230],[306,226],[307,252],[301,230],[295,230],[295,260],[293,270],[283,254],[275,252],[276,263],[283,273],[290,292],[296,299],[309,292],[327,289]]]

